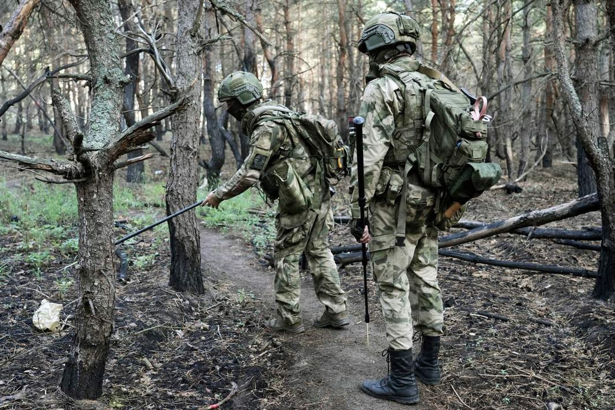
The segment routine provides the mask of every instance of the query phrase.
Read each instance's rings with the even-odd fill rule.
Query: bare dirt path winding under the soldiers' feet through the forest
[[[251,291],[262,301],[262,320],[275,314],[274,272],[258,265],[249,245],[240,239],[203,229],[200,249],[205,269],[233,283],[237,290]],[[381,357],[386,340],[383,323],[372,320],[370,345],[366,346],[363,297],[357,291],[349,292],[348,296],[350,326],[342,330],[315,328],[312,320],[319,317],[323,307],[314,295],[311,277],[308,273],[302,275],[301,309],[306,332],[280,335],[284,348],[294,353],[294,360],[287,367],[287,380],[291,380],[285,385],[288,391],[280,393],[300,398],[304,403],[300,408],[304,409],[408,409],[408,406],[377,400],[360,391],[363,379],[386,374],[386,361]],[[370,311],[373,309],[379,307],[370,305]],[[419,387],[427,389],[423,385]],[[411,408],[423,410],[429,406],[421,403]]]

